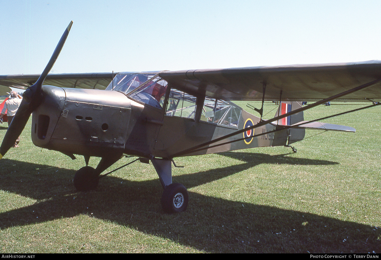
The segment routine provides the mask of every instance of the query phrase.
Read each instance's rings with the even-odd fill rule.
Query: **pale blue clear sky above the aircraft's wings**
[[[0,0],[0,75],[381,59],[381,1]]]

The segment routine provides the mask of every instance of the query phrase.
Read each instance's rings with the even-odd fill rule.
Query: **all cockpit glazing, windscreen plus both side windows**
[[[135,101],[163,108],[168,82],[158,73],[118,73],[106,90],[124,93]],[[171,89],[166,116],[195,119],[196,97],[177,89]],[[242,109],[230,101],[205,97],[200,120],[237,128]]]

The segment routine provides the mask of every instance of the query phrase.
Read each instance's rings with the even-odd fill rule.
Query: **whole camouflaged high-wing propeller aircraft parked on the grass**
[[[168,213],[185,211],[188,205],[186,188],[172,183],[173,158],[290,146],[304,138],[305,129],[355,132],[319,119],[304,121],[303,111],[331,100],[373,102],[360,109],[381,101],[381,61],[48,75],[71,25],[41,75],[0,76],[3,88],[29,86],[4,136],[0,158],[33,112],[31,132],[36,146],[72,159],[74,154],[84,156],[86,166],[74,176],[77,190],[95,189],[109,166],[122,157],[138,157],[154,165],[164,188],[161,203]],[[55,86],[42,86],[44,81]],[[262,108],[255,109],[260,117],[229,100],[262,101]],[[280,101],[270,120],[262,119],[264,101]],[[298,101],[316,102],[302,107]],[[87,166],[91,156],[101,157],[95,169]]]

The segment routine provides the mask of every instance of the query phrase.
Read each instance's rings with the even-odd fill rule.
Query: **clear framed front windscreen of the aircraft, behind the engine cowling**
[[[162,108],[167,84],[155,73],[118,73],[106,90],[116,90],[136,101]]]

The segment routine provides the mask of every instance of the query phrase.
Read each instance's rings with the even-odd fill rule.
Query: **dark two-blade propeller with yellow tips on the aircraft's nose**
[[[73,24],[73,21],[69,23],[64,34],[62,35],[59,43],[57,44],[56,49],[51,56],[48,65],[46,65],[45,70],[42,72],[41,76],[37,81],[25,90],[22,95],[22,102],[19,106],[18,111],[13,117],[11,125],[8,127],[8,130],[5,133],[3,142],[0,147],[0,159],[5,155],[6,152],[14,145],[16,139],[20,136],[22,130],[24,129],[30,114],[42,103],[43,93],[41,91],[42,84],[48,75],[49,71],[56,62],[59,53],[61,52],[62,47],[66,41],[67,35],[69,35],[70,28]]]

